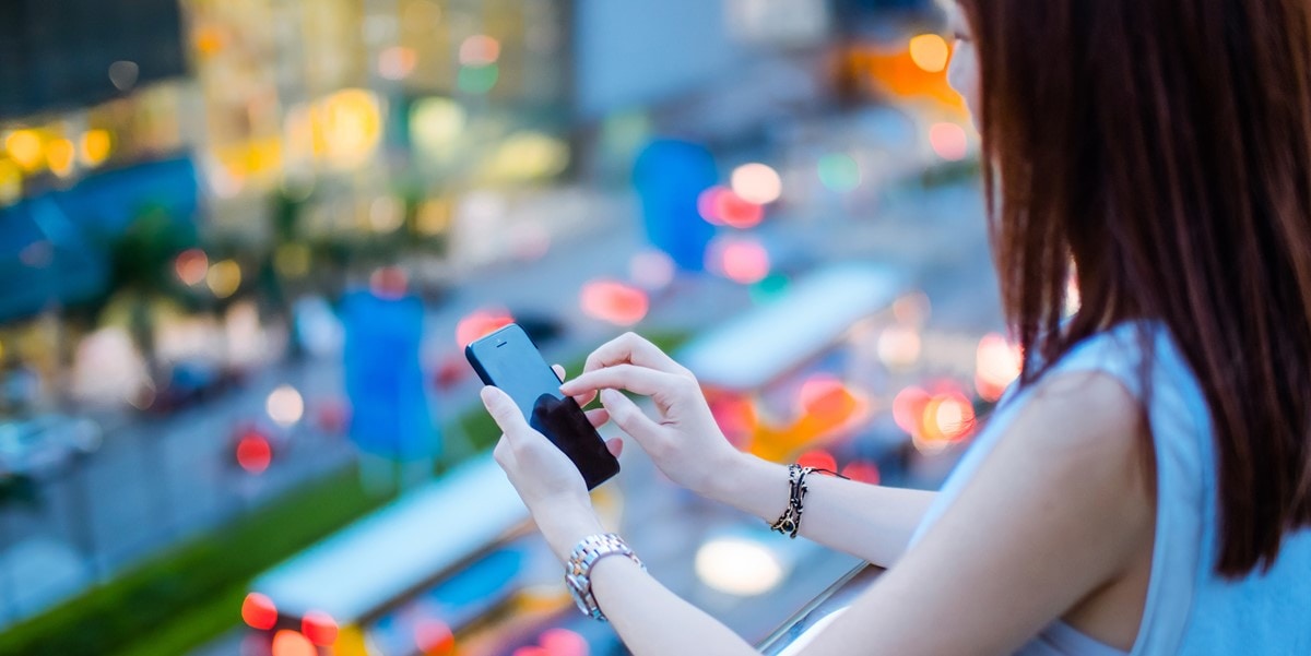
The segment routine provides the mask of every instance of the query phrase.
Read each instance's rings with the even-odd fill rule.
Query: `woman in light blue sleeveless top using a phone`
[[[561,389],[599,390],[594,422],[673,481],[889,567],[805,653],[1311,653],[1308,7],[960,0],[950,80],[1025,357],[940,492],[813,475],[801,519],[797,473],[734,450],[692,373],[633,335]],[[635,653],[751,652],[598,556],[629,551],[585,541],[603,529],[577,471],[484,401],[498,461],[562,560],[593,554],[576,584]]]

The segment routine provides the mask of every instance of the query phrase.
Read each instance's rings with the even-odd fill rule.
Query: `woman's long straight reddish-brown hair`
[[[1268,568],[1311,525],[1311,3],[958,1],[1021,385],[1164,323],[1211,412],[1215,568]]]

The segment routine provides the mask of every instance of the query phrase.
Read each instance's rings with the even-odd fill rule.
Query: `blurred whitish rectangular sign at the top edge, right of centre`
[[[825,0],[726,0],[729,30],[738,41],[813,46],[829,34]]]

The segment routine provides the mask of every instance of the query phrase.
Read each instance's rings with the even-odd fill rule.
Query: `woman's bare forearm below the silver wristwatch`
[[[659,584],[627,558],[603,558],[591,570],[597,604],[636,655],[755,655],[726,626]]]

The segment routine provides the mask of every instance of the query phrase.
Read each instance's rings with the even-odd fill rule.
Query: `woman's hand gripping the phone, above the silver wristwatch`
[[[513,399],[497,388],[482,388],[482,405],[501,427],[493,457],[505,470],[551,549],[566,559],[586,536],[602,533],[591,508],[587,486],[578,467],[544,435],[532,429]],[[589,412],[594,426],[606,422],[604,411]],[[607,443],[615,456],[619,440]]]

